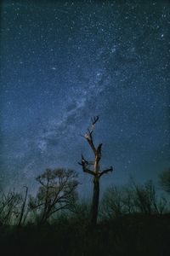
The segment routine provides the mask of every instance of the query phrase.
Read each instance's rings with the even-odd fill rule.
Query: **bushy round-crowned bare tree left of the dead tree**
[[[40,213],[40,224],[47,222],[55,212],[71,209],[77,198],[77,173],[72,170],[47,169],[37,177],[40,183],[36,198],[31,198],[31,209]]]

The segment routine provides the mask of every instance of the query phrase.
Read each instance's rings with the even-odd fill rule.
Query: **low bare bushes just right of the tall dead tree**
[[[100,212],[105,219],[137,212],[162,214],[166,211],[166,198],[156,195],[154,184],[148,181],[140,185],[133,183],[133,187],[110,186],[103,195]]]

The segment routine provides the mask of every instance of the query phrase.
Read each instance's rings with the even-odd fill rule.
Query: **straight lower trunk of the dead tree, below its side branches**
[[[92,209],[91,209],[91,216],[92,216],[92,224],[97,224],[98,218],[98,207],[99,207],[99,178],[94,177],[94,195],[92,201]]]

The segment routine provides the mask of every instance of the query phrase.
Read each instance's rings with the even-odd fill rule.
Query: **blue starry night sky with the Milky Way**
[[[99,115],[102,188],[156,180],[170,166],[170,2],[1,2],[4,188],[36,186],[47,167],[93,154],[83,135]]]

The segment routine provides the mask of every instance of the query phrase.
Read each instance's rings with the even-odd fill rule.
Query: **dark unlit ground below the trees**
[[[77,219],[0,227],[1,255],[169,256],[170,214],[134,214],[92,228]]]

